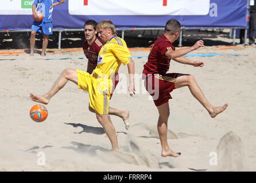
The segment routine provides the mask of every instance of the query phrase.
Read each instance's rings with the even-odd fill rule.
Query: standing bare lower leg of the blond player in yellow
[[[112,150],[117,151],[119,150],[118,142],[117,142],[117,132],[115,131],[114,125],[110,120],[109,114],[99,114],[96,113],[96,118],[99,121],[100,125],[102,125],[103,129],[105,130],[107,137],[109,138]]]

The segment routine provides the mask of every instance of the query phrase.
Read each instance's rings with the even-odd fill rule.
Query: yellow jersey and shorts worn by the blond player
[[[97,113],[108,114],[108,101],[113,87],[111,78],[117,73],[121,63],[127,65],[130,62],[133,62],[133,58],[126,42],[114,36],[100,49],[94,74],[77,70],[78,87],[91,93],[90,106]]]

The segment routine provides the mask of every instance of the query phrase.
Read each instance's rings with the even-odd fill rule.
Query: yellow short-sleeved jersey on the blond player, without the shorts
[[[114,36],[99,51],[94,77],[111,79],[117,73],[121,63],[127,65],[130,62],[133,62],[133,57],[125,40]]]

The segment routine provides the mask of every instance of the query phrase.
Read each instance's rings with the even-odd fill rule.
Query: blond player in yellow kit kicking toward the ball
[[[127,65],[129,72],[129,94],[135,94],[134,61],[123,39],[116,36],[115,26],[109,20],[98,24],[99,37],[105,42],[98,57],[94,73],[76,69],[65,69],[57,78],[52,88],[46,94],[38,96],[30,93],[31,100],[48,104],[51,98],[67,83],[72,81],[90,96],[90,106],[96,112],[96,118],[103,126],[110,139],[112,150],[119,150],[116,131],[108,114],[108,101],[112,90],[112,77],[118,71],[121,63]]]

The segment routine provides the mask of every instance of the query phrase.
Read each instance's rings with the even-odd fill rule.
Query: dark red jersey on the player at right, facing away
[[[145,63],[143,74],[166,74],[170,66],[170,58],[165,56],[166,51],[175,50],[164,34],[162,34],[150,50],[148,62]]]

